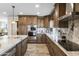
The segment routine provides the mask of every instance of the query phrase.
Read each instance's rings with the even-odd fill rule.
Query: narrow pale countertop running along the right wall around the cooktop
[[[67,51],[58,42],[53,39],[53,36],[49,33],[45,33],[67,56],[79,56],[79,51]]]

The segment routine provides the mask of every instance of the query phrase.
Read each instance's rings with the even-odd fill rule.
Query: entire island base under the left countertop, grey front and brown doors
[[[16,46],[2,54],[2,56],[24,56],[27,50],[27,39],[22,40]]]

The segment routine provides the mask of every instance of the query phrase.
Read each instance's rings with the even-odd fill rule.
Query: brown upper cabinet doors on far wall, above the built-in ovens
[[[37,24],[37,16],[19,16],[19,25]]]

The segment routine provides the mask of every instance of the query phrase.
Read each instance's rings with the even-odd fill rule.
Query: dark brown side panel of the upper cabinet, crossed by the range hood
[[[59,17],[66,15],[66,3],[59,4]],[[60,28],[68,28],[68,21],[59,20],[58,24]]]

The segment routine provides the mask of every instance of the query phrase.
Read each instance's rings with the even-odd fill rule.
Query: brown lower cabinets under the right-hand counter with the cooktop
[[[53,42],[49,37],[46,36],[47,47],[51,56],[66,56],[66,54]]]

